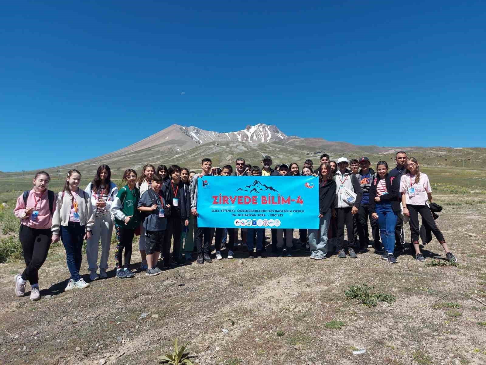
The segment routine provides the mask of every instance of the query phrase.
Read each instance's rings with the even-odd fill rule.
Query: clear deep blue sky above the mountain
[[[11,1],[0,15],[0,170],[96,157],[174,123],[485,146],[485,11],[481,1]]]

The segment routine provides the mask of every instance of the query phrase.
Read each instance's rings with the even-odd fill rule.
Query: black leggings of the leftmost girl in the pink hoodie
[[[35,229],[20,224],[18,233],[26,268],[22,273],[23,280],[29,280],[31,285],[38,284],[38,271],[46,260],[49,247],[51,247],[52,232],[50,229]]]

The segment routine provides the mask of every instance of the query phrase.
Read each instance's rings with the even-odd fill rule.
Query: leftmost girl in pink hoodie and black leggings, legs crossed
[[[52,241],[52,214],[55,194],[48,190],[51,177],[46,171],[35,174],[31,190],[17,198],[14,215],[20,219],[18,238],[22,244],[25,269],[15,275],[15,294],[24,296],[25,284],[31,285],[31,300],[39,300],[39,269],[47,258]]]

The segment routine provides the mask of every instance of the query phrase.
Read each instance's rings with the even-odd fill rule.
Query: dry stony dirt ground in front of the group
[[[40,270],[43,298],[33,302],[14,295],[22,263],[1,264],[0,363],[158,364],[178,338],[191,341],[192,361],[203,365],[486,364],[486,204],[436,200],[457,267],[425,266],[445,260],[435,239],[423,250],[425,263],[407,253],[397,265],[372,249],[354,260],[315,261],[304,252],[250,260],[240,245],[233,260],[124,280],[110,271],[90,288],[63,292],[69,272],[61,246]],[[406,232],[409,242],[408,225]],[[135,253],[132,263],[138,267]],[[396,302],[367,308],[348,300],[344,291],[361,283]],[[333,320],[344,326],[328,329]]]

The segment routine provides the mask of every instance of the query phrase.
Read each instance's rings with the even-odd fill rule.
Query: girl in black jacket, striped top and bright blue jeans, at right
[[[385,252],[383,260],[396,264],[395,258],[395,226],[397,225],[398,214],[400,213],[398,179],[388,175],[388,164],[386,161],[379,161],[376,165],[377,176],[371,182],[369,191],[369,213],[374,219],[378,219],[380,234],[382,237]]]

